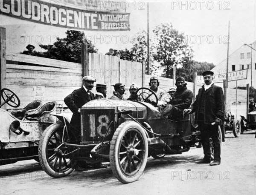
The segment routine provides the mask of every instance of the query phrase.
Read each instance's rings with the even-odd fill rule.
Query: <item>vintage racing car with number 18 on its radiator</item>
[[[146,92],[149,90],[150,92]],[[149,103],[147,88],[137,90],[143,101],[96,99],[81,107],[81,129],[70,125],[70,116],[59,120],[41,136],[39,159],[44,171],[54,178],[69,175],[77,163],[110,162],[122,183],[136,181],[142,175],[147,158],[181,154],[195,145],[199,131],[192,132],[189,116],[170,120]]]

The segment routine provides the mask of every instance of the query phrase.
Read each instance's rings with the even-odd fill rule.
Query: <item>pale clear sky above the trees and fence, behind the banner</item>
[[[132,37],[141,29],[147,29],[147,1],[128,1],[130,12],[130,31],[93,32],[92,42],[105,54],[109,48],[130,49]],[[227,57],[228,22],[230,21],[230,54],[244,43],[256,40],[256,1],[148,1],[149,29],[153,33],[155,26],[172,23],[173,27],[186,36],[194,51],[193,60],[207,61],[217,65]],[[44,34],[43,44],[52,43],[55,37],[64,38],[67,29],[46,26],[2,16],[0,25],[6,27],[6,33]],[[10,30],[10,26],[18,28]],[[9,26],[9,27],[8,27]],[[24,30],[26,26],[26,30]],[[109,37],[112,37],[111,40]],[[116,40],[114,37],[117,37]],[[33,43],[33,42],[32,42]],[[42,51],[38,43],[33,43],[37,51]],[[10,52],[22,52],[25,45],[7,45]]]

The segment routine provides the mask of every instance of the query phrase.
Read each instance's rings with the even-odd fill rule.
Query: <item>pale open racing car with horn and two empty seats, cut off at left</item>
[[[2,89],[4,104],[19,107],[20,100],[10,89]],[[20,160],[38,159],[38,145],[44,130],[55,123],[50,115],[56,108],[56,102],[42,105],[33,101],[23,109],[12,112],[0,108],[0,165],[15,163]]]

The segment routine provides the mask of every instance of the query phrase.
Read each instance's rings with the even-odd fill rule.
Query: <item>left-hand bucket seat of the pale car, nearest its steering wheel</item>
[[[32,101],[31,103],[29,103],[23,109],[12,111],[11,114],[13,116],[15,116],[16,118],[23,120],[23,118],[26,116],[27,113],[34,112],[34,111],[40,109],[41,106],[42,106],[42,102],[39,100],[35,100],[35,101]]]

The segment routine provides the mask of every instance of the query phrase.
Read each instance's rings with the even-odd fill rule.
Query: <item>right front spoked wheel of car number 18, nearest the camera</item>
[[[148,158],[148,141],[144,129],[134,121],[126,121],[116,129],[110,146],[113,174],[123,184],[140,178]]]

